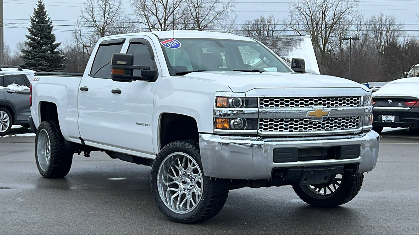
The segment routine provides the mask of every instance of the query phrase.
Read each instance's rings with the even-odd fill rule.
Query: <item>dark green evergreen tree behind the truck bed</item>
[[[34,15],[31,16],[29,35],[26,35],[26,45],[29,49],[22,50],[22,67],[37,72],[62,72],[65,69],[65,58],[57,51],[61,43],[55,43],[52,28],[52,20],[48,17],[45,4],[38,0]]]

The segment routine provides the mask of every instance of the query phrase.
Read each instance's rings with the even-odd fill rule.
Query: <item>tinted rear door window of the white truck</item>
[[[90,74],[111,78],[111,59],[114,54],[121,52],[122,45],[123,43],[99,46]]]

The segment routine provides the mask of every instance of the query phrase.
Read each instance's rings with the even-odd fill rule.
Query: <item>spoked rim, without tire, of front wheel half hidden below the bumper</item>
[[[334,195],[341,187],[343,180],[342,174],[336,174],[335,177],[325,184],[301,185],[301,189],[311,197],[325,199]]]

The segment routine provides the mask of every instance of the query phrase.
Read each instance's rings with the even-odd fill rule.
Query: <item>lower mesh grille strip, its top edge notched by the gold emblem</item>
[[[360,117],[259,119],[259,131],[264,133],[352,130],[359,125]]]

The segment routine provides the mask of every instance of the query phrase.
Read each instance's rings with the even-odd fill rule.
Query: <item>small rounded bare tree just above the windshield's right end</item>
[[[277,36],[279,19],[273,15],[265,18],[261,15],[254,20],[245,20],[241,26],[241,35],[243,36]]]

